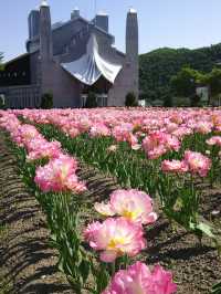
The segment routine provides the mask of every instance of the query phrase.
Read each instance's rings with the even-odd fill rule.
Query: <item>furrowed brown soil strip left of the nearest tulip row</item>
[[[56,270],[44,217],[0,133],[0,294],[72,293]]]

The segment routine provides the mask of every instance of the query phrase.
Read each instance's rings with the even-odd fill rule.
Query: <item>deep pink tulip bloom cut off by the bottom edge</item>
[[[102,294],[172,294],[176,291],[170,272],[160,265],[150,272],[146,264],[136,262],[127,270],[118,271]]]

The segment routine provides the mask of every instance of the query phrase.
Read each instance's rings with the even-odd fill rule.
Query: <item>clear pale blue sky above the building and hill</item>
[[[25,52],[28,13],[41,0],[2,0],[0,51],[6,60]],[[92,19],[94,0],[49,0],[52,21],[69,20],[74,7]],[[127,10],[134,7],[139,19],[139,51],[157,48],[199,48],[221,42],[221,0],[96,0],[97,11],[109,14],[110,33],[116,45],[125,50]]]

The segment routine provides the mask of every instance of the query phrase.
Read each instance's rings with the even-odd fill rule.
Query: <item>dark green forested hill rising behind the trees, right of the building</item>
[[[170,94],[170,78],[181,67],[210,72],[221,63],[221,43],[197,50],[162,48],[139,56],[140,90],[148,99]]]

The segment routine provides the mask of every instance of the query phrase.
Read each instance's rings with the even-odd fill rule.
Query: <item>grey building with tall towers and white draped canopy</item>
[[[51,24],[46,1],[28,19],[27,53],[4,64],[0,95],[8,107],[39,107],[53,93],[54,107],[83,107],[93,92],[98,106],[124,106],[125,96],[138,97],[138,21],[126,19],[126,53],[118,51],[108,31],[108,15],[91,21],[75,9],[66,22]]]

